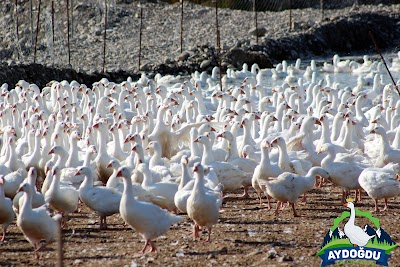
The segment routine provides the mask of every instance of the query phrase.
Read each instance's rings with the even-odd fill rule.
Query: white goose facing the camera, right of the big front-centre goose
[[[218,223],[222,200],[216,194],[207,194],[204,186],[204,169],[200,163],[195,163],[193,171],[196,180],[193,192],[187,200],[187,214],[194,221],[194,238],[199,237],[200,227],[207,227],[208,238],[206,242],[210,242],[211,229],[214,224]]]

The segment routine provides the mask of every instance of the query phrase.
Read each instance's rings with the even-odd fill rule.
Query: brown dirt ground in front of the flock
[[[109,229],[100,231],[99,218],[80,206],[80,213],[71,216],[68,229],[63,231],[64,265],[320,266],[321,260],[315,254],[333,219],[346,210],[340,204],[340,189],[331,185],[313,189],[307,204],[298,203],[301,217],[297,218],[289,207],[275,218],[272,210],[260,206],[254,192],[248,199],[238,198],[241,191],[235,193],[226,199],[210,243],[193,241],[192,222],[182,215],[186,218],[183,223],[174,225],[165,236],[155,240],[158,253],[146,255],[137,253],[144,245],[141,236],[125,226],[119,215],[108,217]],[[275,208],[275,201],[272,204]],[[373,201],[364,195],[356,207],[362,211],[373,210]],[[389,201],[389,210],[373,216],[380,220],[381,227],[393,241],[400,240],[398,198]],[[363,226],[363,223],[363,218],[356,217],[357,225]],[[343,229],[343,225],[340,227]],[[205,232],[202,237],[206,237]],[[56,251],[55,243],[49,245],[40,252],[40,260],[36,260],[32,246],[13,224],[6,241],[0,243],[0,266],[55,266]],[[374,263],[367,262],[364,266],[371,265]],[[400,249],[391,253],[389,265],[400,266]]]

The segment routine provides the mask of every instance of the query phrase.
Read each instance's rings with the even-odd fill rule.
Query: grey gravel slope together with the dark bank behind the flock
[[[35,1],[34,1],[35,2]],[[68,65],[67,21],[65,6],[55,1],[54,43],[51,29],[51,1],[42,1],[36,63],[30,30],[29,1],[19,0],[17,15],[13,2],[1,1],[0,81],[11,84],[25,78],[43,85],[54,72],[83,82],[84,73],[104,76],[103,5],[98,1],[74,1],[73,36],[70,36]],[[143,7],[141,63],[139,69],[140,9],[133,1],[109,1],[107,17],[106,76],[125,79],[140,71],[162,74],[188,74],[210,70],[217,65],[215,49],[215,9],[185,2],[183,52],[180,52],[180,4],[146,2]],[[369,31],[382,50],[398,50],[400,45],[400,10],[394,5],[353,5],[327,9],[321,21],[318,8],[259,12],[258,43],[255,38],[254,13],[219,9],[222,66],[239,68],[243,62],[257,62],[262,68],[277,62],[331,57],[334,53],[353,55],[374,53]],[[37,7],[34,7],[34,29]],[[18,19],[18,38],[16,21]],[[71,26],[72,27],[72,26]],[[18,41],[19,40],[19,41]],[[22,65],[16,69],[10,66]],[[28,65],[28,66],[26,66]],[[54,70],[53,68],[60,70]],[[25,73],[20,75],[23,68]],[[40,69],[40,71],[37,71]],[[72,69],[72,70],[65,70]],[[7,71],[6,71],[7,70]],[[44,73],[43,73],[43,71]],[[75,73],[76,72],[76,73]],[[28,74],[27,74],[28,73]],[[31,75],[31,73],[38,74]],[[65,73],[65,74],[63,74]],[[73,74],[71,74],[73,73]],[[100,73],[100,74],[99,74]],[[72,76],[71,76],[72,75]],[[61,77],[56,75],[56,77]]]

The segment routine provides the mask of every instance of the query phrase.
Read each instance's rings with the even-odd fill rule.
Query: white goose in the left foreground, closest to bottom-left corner
[[[36,258],[39,258],[37,252],[56,239],[59,221],[61,215],[50,217],[45,206],[32,209],[32,185],[23,183],[18,191],[24,192],[24,202],[21,206],[20,213],[17,218],[18,228],[22,231],[25,238],[35,248]],[[39,246],[39,242],[44,240],[45,243]]]

